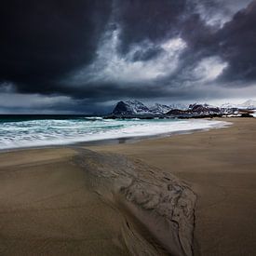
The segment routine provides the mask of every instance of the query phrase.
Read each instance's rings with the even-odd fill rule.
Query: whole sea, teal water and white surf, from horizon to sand
[[[207,119],[104,119],[88,115],[0,115],[0,150],[143,138],[222,128]]]

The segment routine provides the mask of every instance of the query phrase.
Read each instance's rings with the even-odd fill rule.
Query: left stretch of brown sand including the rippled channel
[[[157,168],[81,148],[0,155],[1,255],[191,255],[195,194]]]

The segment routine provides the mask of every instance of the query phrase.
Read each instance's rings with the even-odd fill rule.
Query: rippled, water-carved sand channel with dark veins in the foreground
[[[92,189],[127,214],[123,238],[133,255],[193,254],[196,195],[186,183],[123,155],[76,151]]]

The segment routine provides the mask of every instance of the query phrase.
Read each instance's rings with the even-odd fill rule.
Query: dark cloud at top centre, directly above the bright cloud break
[[[130,45],[144,40],[157,42],[179,34],[177,24],[185,8],[186,0],[115,1],[115,19],[122,28],[121,51],[127,52]]]

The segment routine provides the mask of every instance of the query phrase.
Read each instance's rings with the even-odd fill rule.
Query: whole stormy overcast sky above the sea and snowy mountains
[[[0,113],[256,98],[256,1],[8,0]]]

